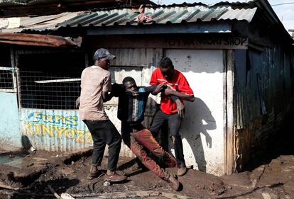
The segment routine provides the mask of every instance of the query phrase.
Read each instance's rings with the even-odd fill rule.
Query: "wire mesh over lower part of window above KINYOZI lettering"
[[[80,75],[77,69],[66,71],[20,71],[22,108],[76,109],[80,96]]]

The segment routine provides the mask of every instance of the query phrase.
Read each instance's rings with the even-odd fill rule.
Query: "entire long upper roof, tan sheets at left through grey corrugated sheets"
[[[181,6],[154,6],[144,8],[151,15],[151,23],[138,23],[134,19],[140,11],[134,8],[101,9],[98,11],[61,13],[53,16],[22,17],[18,27],[2,28],[1,32],[22,30],[56,30],[60,27],[87,27],[111,25],[151,25],[165,23],[193,23],[222,20],[251,22],[257,8],[232,8],[229,6],[206,6],[204,4],[183,4]],[[6,19],[8,20],[8,18]],[[10,27],[11,28],[11,27]],[[1,25],[0,25],[1,29]]]

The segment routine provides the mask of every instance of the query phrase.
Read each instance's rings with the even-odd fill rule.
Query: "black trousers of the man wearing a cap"
[[[121,151],[121,135],[110,120],[83,120],[92,135],[93,154],[92,166],[99,166],[103,159],[106,144],[108,145],[108,169],[116,170]]]

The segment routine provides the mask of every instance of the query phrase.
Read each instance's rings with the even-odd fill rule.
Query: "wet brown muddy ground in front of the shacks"
[[[80,152],[7,152],[0,150],[0,198],[55,198],[53,190],[74,198],[294,198],[293,130],[278,135],[246,171],[232,176],[212,176],[190,169],[180,177],[180,191],[151,171],[131,172],[132,159],[120,158],[119,169],[128,177],[125,183],[104,181],[107,158],[102,175],[87,180],[91,149]],[[175,173],[174,169],[169,169]]]

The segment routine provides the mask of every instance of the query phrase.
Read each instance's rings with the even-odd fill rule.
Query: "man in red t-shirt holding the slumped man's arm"
[[[194,93],[187,82],[185,76],[174,69],[173,62],[168,57],[160,60],[159,68],[156,69],[150,80],[150,85],[157,85],[165,83],[167,89],[161,94],[160,110],[156,112],[153,118],[150,131],[153,135],[157,134],[160,127],[165,120],[168,120],[168,127],[170,130],[170,137],[175,148],[175,158],[178,164],[178,176],[183,176],[187,172],[184,153],[183,142],[180,137],[180,124],[184,116],[183,106],[180,103],[170,99],[170,96],[178,96],[180,101],[194,101]],[[153,93],[157,94],[157,93]],[[178,114],[177,114],[178,113]]]

